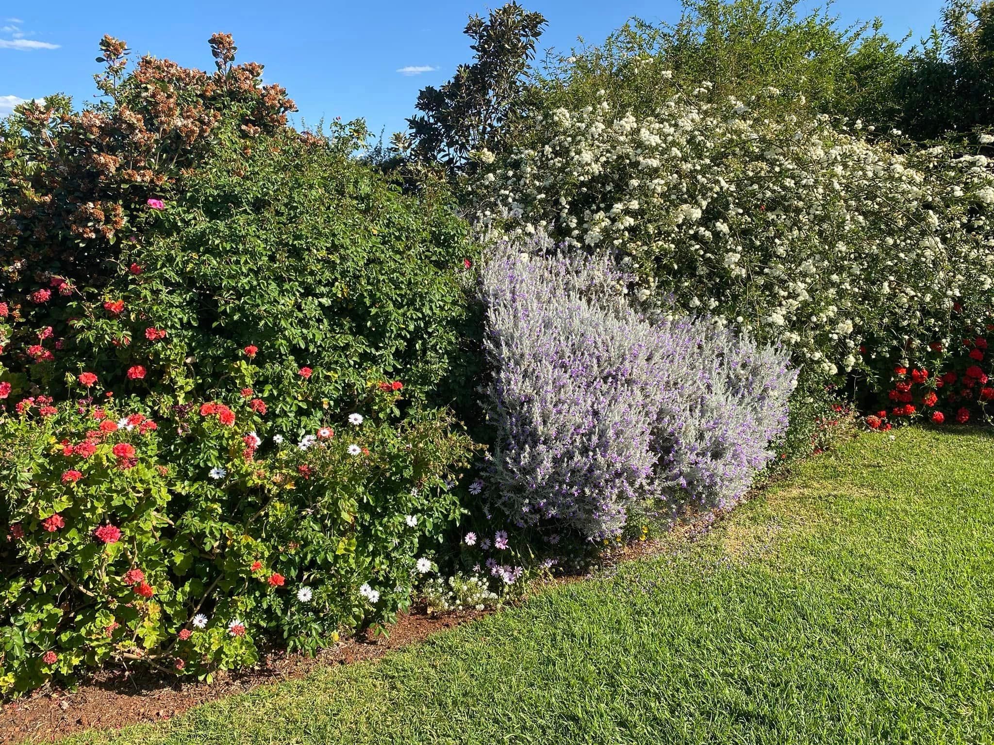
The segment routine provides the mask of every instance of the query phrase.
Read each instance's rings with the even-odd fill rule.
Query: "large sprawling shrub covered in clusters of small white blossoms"
[[[779,95],[720,99],[703,83],[654,117],[606,101],[552,111],[540,145],[469,186],[477,217],[610,247],[641,300],[786,343],[823,373],[860,367],[861,345],[868,359],[903,356],[979,325],[994,287],[994,164],[775,107]]]

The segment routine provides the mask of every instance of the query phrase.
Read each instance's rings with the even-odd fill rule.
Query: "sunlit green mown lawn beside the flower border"
[[[866,435],[664,555],[71,742],[994,742],[992,494],[986,434]]]

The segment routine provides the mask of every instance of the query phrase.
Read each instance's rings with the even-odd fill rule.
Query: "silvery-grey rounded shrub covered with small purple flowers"
[[[787,424],[787,355],[709,319],[650,322],[607,257],[541,242],[481,270],[494,506],[554,541],[600,540],[645,504],[742,497]]]

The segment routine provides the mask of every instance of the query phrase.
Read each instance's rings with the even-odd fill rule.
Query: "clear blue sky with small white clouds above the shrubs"
[[[491,0],[496,6],[501,0]],[[566,50],[582,36],[597,43],[626,18],[672,21],[675,0],[525,0],[549,21],[543,47]],[[844,22],[881,16],[893,36],[915,39],[938,18],[941,0],[839,0]],[[66,92],[78,102],[93,93],[91,75],[103,34],[127,41],[135,56],[166,57],[190,67],[213,67],[207,39],[235,36],[239,60],[265,65],[305,121],[365,117],[387,134],[404,128],[417,91],[447,79],[469,59],[462,35],[466,17],[483,2],[260,2],[175,0],[0,0],[0,115],[19,98]],[[808,0],[806,7],[816,7]],[[422,72],[399,72],[404,69]]]

